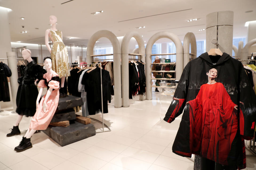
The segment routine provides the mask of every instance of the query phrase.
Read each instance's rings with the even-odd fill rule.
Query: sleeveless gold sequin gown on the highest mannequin
[[[59,30],[49,30],[53,40],[53,49],[51,50],[52,69],[59,75],[59,78],[70,76],[69,56],[62,41],[62,33]]]

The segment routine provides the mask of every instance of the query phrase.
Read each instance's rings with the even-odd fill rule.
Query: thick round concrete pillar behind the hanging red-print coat
[[[216,39],[218,48],[230,56],[233,49],[233,11],[218,11],[206,15],[206,52],[211,48],[216,48],[211,43]]]

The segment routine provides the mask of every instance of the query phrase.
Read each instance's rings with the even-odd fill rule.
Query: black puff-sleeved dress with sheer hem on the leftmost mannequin
[[[41,80],[46,70],[42,66],[37,65],[35,61],[27,64],[24,76],[18,78],[18,91],[16,97],[16,112],[19,115],[34,116],[36,111],[36,100],[38,95],[35,80]]]

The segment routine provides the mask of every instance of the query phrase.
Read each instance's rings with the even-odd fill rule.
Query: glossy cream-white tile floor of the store
[[[6,137],[17,114],[1,112],[0,170],[192,170],[190,159],[171,150],[181,121],[181,116],[171,124],[163,121],[171,98],[153,92],[153,100],[138,101],[135,97],[128,108],[114,108],[113,101],[109,113],[104,114],[110,132],[97,133],[64,147],[41,132],[31,138],[33,147],[20,153],[13,149],[29,127],[30,118],[22,119],[21,135]],[[91,117],[100,120],[101,114]],[[100,130],[101,125],[92,122]],[[256,157],[247,157],[247,166],[248,170],[256,170]]]

